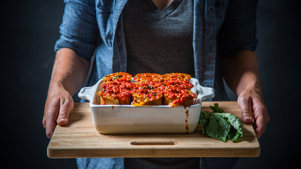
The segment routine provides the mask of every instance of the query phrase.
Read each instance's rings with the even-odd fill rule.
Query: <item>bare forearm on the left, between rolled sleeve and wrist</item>
[[[51,74],[49,89],[62,86],[74,95],[85,82],[90,62],[79,57],[73,50],[62,48],[57,51]]]

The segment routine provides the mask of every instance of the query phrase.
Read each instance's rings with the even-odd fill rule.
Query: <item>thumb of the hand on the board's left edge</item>
[[[61,100],[60,111],[57,117],[58,125],[66,125],[69,121],[69,114],[73,110],[73,99]]]

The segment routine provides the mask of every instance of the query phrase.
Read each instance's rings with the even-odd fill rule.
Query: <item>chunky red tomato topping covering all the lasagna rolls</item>
[[[131,83],[131,79],[135,83]],[[103,99],[117,99],[122,103],[126,100],[131,101],[153,101],[162,99],[162,104],[175,107],[178,105],[193,104],[192,100],[197,95],[190,91],[194,85],[189,82],[191,76],[182,73],[171,74],[131,74],[118,72],[103,77],[104,83],[101,84],[103,91],[98,95]]]

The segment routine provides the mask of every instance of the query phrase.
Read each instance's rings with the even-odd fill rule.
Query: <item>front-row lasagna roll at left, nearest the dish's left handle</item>
[[[131,90],[106,89],[97,93],[101,105],[124,105],[131,103]]]

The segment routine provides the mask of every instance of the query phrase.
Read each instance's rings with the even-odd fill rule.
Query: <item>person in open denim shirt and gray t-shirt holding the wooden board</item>
[[[222,83],[238,95],[244,123],[259,139],[269,121],[262,97],[256,49],[257,1],[78,0],[65,1],[43,125],[51,138],[66,125],[74,95],[113,72],[191,74],[227,100]],[[84,158],[79,168],[233,167],[237,158]],[[225,166],[223,166],[223,163]],[[173,165],[176,164],[176,165]]]

